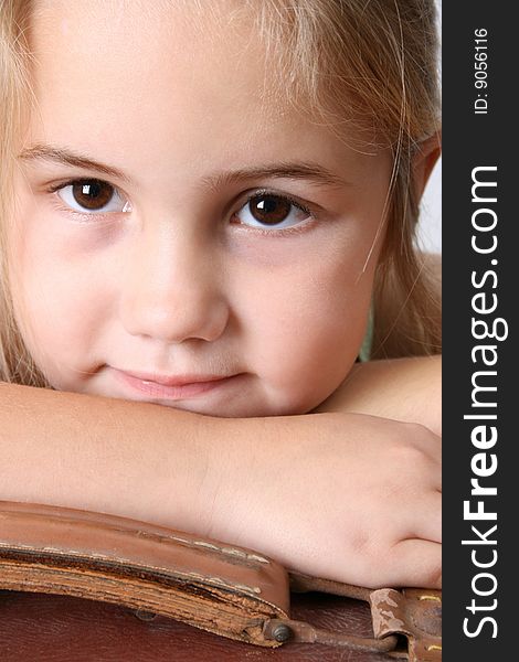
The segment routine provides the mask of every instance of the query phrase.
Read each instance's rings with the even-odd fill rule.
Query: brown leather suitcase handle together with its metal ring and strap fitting
[[[0,501],[0,589],[115,602],[263,647],[286,641],[441,659],[439,591],[369,589],[288,574],[272,559],[215,541],[114,515]],[[289,590],[369,601],[373,638],[289,617]],[[425,595],[425,594],[424,594]],[[399,648],[398,634],[409,640]]]

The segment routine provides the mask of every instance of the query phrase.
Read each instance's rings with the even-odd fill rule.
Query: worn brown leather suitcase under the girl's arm
[[[288,574],[98,513],[0,502],[0,589],[2,662],[441,660],[439,591]]]

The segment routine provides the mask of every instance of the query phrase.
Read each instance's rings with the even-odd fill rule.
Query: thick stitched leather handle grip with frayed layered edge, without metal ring
[[[255,643],[289,611],[288,576],[242,547],[142,522],[0,502],[0,588],[117,602]]]

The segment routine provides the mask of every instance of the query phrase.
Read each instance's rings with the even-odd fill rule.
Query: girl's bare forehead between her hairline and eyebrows
[[[244,0],[36,1],[31,138],[149,177],[157,163],[169,177],[181,163],[188,177],[201,162],[314,160],[316,150],[331,169],[354,160],[369,171],[371,159],[279,96],[257,18]]]

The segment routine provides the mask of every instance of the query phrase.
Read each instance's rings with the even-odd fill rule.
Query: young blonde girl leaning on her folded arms
[[[439,586],[433,3],[0,17],[0,498]]]

